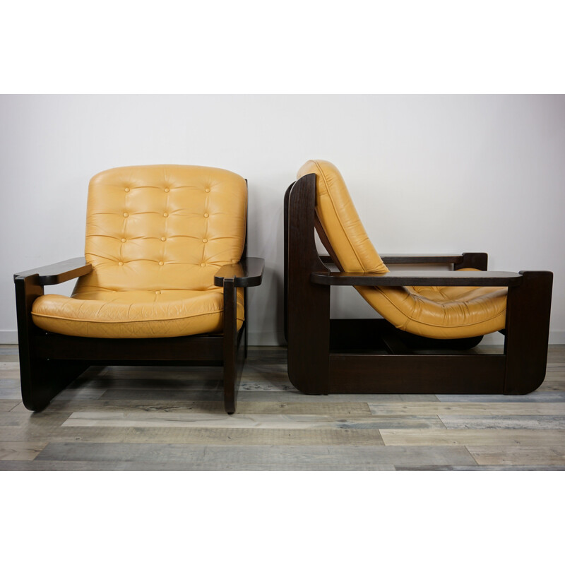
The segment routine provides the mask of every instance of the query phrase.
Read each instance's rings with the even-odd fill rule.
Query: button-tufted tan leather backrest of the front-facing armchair
[[[77,290],[206,290],[245,241],[246,182],[191,165],[118,167],[90,180]]]

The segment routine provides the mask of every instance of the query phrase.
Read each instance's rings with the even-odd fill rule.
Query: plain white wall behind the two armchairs
[[[379,251],[553,270],[565,343],[565,96],[3,95],[0,152],[0,343],[17,339],[13,273],[83,254],[90,177],[157,163],[249,179],[249,254],[266,259],[250,343],[282,343],[283,194],[311,158],[340,168]],[[371,315],[340,291],[335,315]]]

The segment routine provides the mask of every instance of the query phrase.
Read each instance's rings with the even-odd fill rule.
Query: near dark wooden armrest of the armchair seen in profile
[[[405,270],[383,273],[311,273],[316,285],[356,287],[514,287],[521,284],[520,273],[499,270]]]

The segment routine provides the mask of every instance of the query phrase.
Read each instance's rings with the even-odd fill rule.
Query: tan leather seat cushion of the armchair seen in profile
[[[396,328],[426,338],[472,338],[499,331],[506,321],[506,287],[357,287],[357,290]]]

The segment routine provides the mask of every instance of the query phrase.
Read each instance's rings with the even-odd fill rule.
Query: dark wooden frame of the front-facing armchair
[[[181,365],[224,367],[224,404],[236,409],[237,390],[247,357],[247,287],[261,284],[264,261],[247,257],[221,267],[214,284],[224,290],[223,335],[201,334],[179,338],[79,338],[49,333],[32,321],[33,301],[46,285],[58,285],[86,275],[92,266],[83,257],[14,275],[20,378],[23,403],[28,410],[43,410],[63,388],[90,365]],[[236,292],[244,288],[245,320],[237,331]]]

